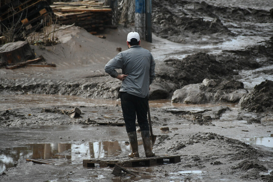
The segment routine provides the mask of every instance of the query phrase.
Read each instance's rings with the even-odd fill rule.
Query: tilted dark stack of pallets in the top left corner
[[[0,7],[2,32],[14,29],[15,32],[30,33],[52,19],[55,19],[55,15],[45,0],[15,0]]]

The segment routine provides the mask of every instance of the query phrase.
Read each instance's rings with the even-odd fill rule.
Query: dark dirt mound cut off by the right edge
[[[256,85],[251,93],[241,100],[241,108],[247,111],[264,112],[273,110],[273,81],[265,80]]]

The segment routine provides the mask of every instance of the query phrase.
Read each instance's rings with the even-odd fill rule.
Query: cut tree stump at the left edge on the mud
[[[0,65],[13,65],[35,59],[35,53],[26,41],[11,42],[0,47]]]

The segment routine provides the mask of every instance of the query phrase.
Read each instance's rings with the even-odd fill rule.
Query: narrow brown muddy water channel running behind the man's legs
[[[66,95],[0,95],[0,110],[8,110],[15,108],[34,108],[34,107],[49,107],[49,106],[116,106],[120,105],[120,100],[102,100],[82,98],[78,96]],[[186,110],[202,109],[204,107],[219,106],[219,104],[181,104],[171,103],[171,100],[151,100],[149,101],[151,107],[183,107]],[[223,104],[225,106],[234,106],[234,104]]]

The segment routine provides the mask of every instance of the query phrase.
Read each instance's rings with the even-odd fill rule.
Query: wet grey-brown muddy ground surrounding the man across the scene
[[[106,39],[71,27],[58,31],[57,45],[32,45],[56,68],[0,69],[0,181],[273,181],[271,1],[152,3],[153,43],[141,46],[156,61],[153,151],[181,162],[128,168],[141,177],[83,167],[83,159],[127,158],[130,151],[120,81],[103,68],[116,47],[127,49],[133,26],[106,29]],[[172,103],[177,90],[194,93],[197,85],[211,98]],[[69,113],[75,107],[79,118]],[[140,133],[138,139],[143,157]]]

